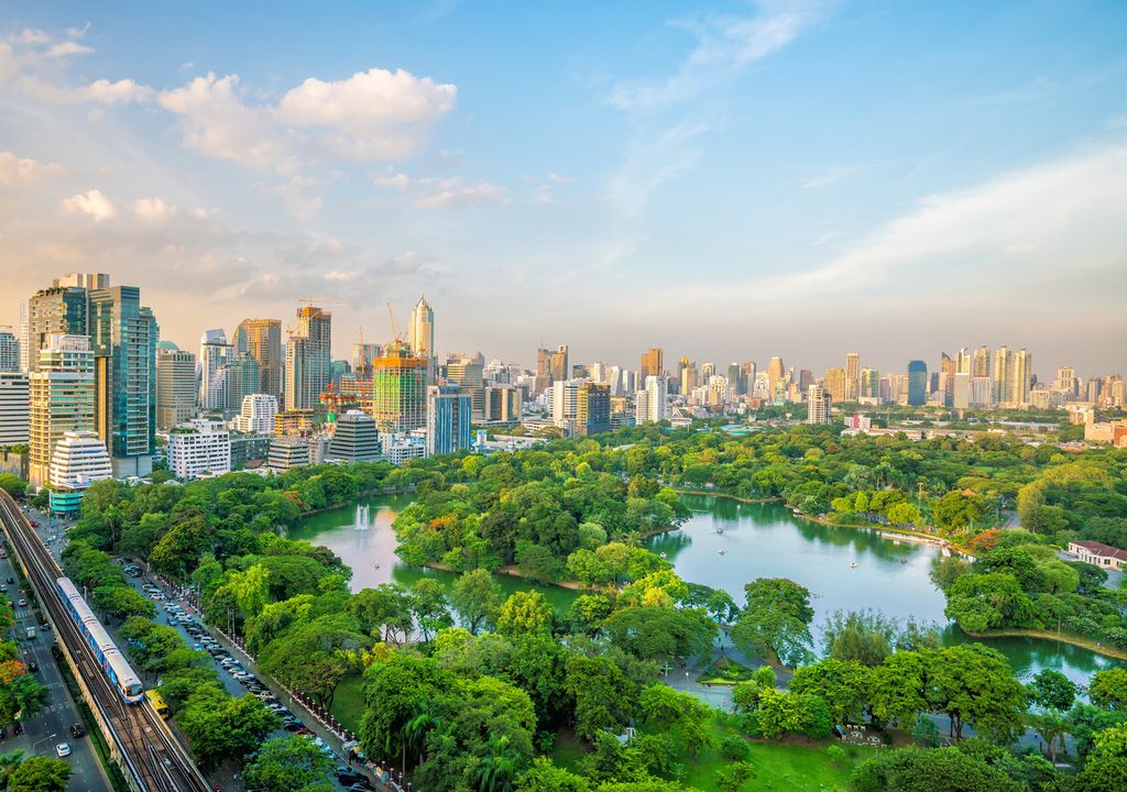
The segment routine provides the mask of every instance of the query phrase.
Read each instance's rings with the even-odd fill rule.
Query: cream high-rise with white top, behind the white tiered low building
[[[51,456],[68,431],[92,431],[94,351],[87,336],[51,333],[30,374],[28,471],[34,487],[51,478]]]

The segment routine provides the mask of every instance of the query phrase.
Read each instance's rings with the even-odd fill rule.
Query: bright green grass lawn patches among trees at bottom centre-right
[[[720,724],[713,728],[719,742],[725,735],[734,733]],[[740,787],[740,792],[846,792],[849,775],[860,762],[873,756],[876,748],[857,748],[842,766],[836,766],[826,756],[826,747],[840,745],[836,740],[826,742],[748,742],[752,749],[748,759],[755,766],[755,777]],[[568,731],[561,731],[556,740],[551,758],[560,767],[574,769],[583,756],[583,747]],[[701,792],[719,792],[716,774],[729,759],[720,756],[717,748],[709,748],[684,765],[682,780],[686,786]]]

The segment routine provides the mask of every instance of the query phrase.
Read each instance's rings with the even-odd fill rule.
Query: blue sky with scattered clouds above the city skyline
[[[1127,3],[5,3],[0,324],[1127,373]]]

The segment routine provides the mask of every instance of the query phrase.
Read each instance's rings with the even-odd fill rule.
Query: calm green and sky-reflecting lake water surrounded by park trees
[[[651,537],[647,545],[673,562],[685,580],[728,591],[743,604],[745,584],[760,577],[790,578],[810,589],[814,632],[835,609],[871,608],[889,616],[947,624],[943,595],[929,571],[939,550],[895,541],[872,531],[835,528],[795,517],[781,504],[743,504],[716,496],[685,496],[692,517],[677,531]],[[421,577],[452,582],[454,575],[407,567],[396,555],[391,523],[411,496],[379,496],[355,506],[311,515],[290,532],[293,539],[323,544],[353,568],[354,590],[382,582],[410,584]],[[356,506],[367,507],[365,531],[357,531]],[[720,551],[724,551],[722,553]],[[855,566],[854,566],[855,564]],[[499,578],[506,594],[532,584]],[[539,587],[557,608],[567,608],[576,591]],[[948,643],[970,640],[958,628],[943,631]],[[1003,652],[1021,678],[1055,668],[1077,682],[1118,665],[1079,647],[1055,641],[1004,638],[985,641]]]

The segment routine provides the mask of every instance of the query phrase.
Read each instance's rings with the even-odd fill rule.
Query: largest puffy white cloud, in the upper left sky
[[[308,161],[396,160],[416,153],[454,107],[458,89],[410,72],[370,69],[309,78],[273,104],[248,104],[236,74],[208,73],[161,91],[183,117],[184,144],[257,170],[293,173]]]

